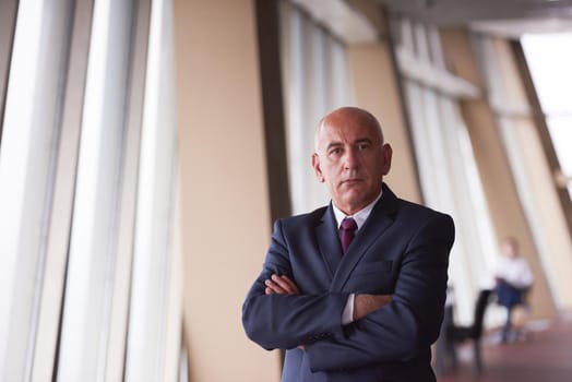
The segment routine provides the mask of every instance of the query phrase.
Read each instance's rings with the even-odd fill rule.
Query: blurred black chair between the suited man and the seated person
[[[449,347],[453,351],[455,344],[463,343],[465,341],[473,341],[473,370],[476,373],[480,373],[482,370],[482,360],[480,357],[480,338],[482,336],[482,321],[485,319],[485,311],[487,309],[490,295],[491,290],[489,289],[481,289],[479,291],[477,301],[475,303],[475,315],[470,326],[460,326],[452,323],[446,329],[448,341],[450,342]],[[454,354],[453,360],[455,365],[456,357]]]

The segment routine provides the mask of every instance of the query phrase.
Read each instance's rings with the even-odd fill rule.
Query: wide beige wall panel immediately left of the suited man
[[[191,381],[277,381],[240,314],[271,229],[253,2],[176,0],[175,24]]]

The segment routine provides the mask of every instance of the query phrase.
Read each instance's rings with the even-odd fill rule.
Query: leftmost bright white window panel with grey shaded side
[[[3,12],[5,7],[10,15],[10,4],[0,8]],[[0,157],[1,380],[28,380],[32,374],[71,10],[70,0],[59,0],[49,4],[21,2],[17,11]]]

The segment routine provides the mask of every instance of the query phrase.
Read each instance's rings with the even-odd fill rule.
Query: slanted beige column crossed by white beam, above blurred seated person
[[[445,31],[441,37],[450,70],[484,88],[466,32]],[[496,117],[485,98],[463,100],[461,109],[473,144],[497,238],[499,241],[505,236],[515,236],[519,239],[523,255],[531,263],[535,275],[535,285],[529,297],[533,314],[537,318],[555,317],[552,296],[531,227],[520,203]]]

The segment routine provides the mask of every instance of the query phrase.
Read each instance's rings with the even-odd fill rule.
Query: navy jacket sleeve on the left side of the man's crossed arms
[[[269,350],[289,349],[343,334],[342,312],[349,294],[265,295],[264,282],[272,274],[286,275],[296,282],[289,255],[282,223],[277,220],[262,272],[242,306],[242,325],[248,337]]]

